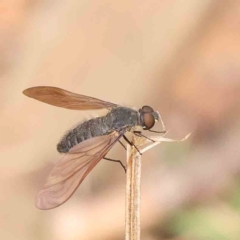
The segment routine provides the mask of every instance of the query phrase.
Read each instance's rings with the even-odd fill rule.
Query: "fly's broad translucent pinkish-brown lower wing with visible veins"
[[[88,139],[73,147],[60,159],[46,184],[38,192],[36,207],[51,209],[66,202],[121,136],[121,133],[113,132]]]

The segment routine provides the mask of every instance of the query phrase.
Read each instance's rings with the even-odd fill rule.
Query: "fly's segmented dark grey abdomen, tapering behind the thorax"
[[[70,130],[57,145],[57,150],[60,153],[69,152],[78,143],[89,138],[106,135],[108,130],[105,117],[90,119]]]

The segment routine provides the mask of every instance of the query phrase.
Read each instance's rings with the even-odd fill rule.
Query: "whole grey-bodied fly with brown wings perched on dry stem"
[[[146,136],[141,131],[135,131],[137,126],[151,132],[165,132],[151,130],[160,115],[149,106],[143,106],[137,111],[56,87],[32,87],[24,90],[23,94],[72,110],[108,109],[105,116],[79,124],[58,143],[57,150],[64,153],[64,156],[57,162],[37,194],[35,205],[39,209],[55,208],[66,202],[101,159],[119,162],[126,171],[121,161],[105,156],[118,141],[125,147],[120,141],[122,137],[133,145],[125,136],[127,131],[140,137]],[[135,148],[138,150],[136,146]]]

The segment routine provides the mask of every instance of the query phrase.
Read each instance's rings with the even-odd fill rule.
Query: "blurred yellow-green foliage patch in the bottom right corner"
[[[239,200],[239,199],[238,199]],[[183,209],[170,222],[168,231],[174,236],[199,239],[239,239],[240,211],[228,203],[215,203]]]

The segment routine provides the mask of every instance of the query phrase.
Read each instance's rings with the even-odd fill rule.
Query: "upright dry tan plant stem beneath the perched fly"
[[[135,142],[136,144],[136,142]],[[140,240],[141,156],[127,146],[126,240]]]

